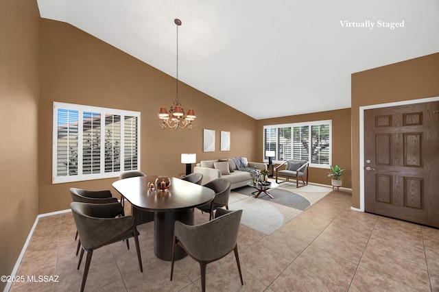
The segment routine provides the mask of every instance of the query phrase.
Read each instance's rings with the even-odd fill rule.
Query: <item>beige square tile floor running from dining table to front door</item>
[[[233,253],[207,266],[207,291],[439,291],[439,230],[356,212],[351,194],[332,192],[270,235],[241,225],[241,286]],[[209,216],[195,211],[195,223]],[[134,241],[96,250],[86,291],[200,291],[198,264],[170,263],[153,253],[153,225],[139,226],[143,273]],[[59,282],[16,282],[10,291],[79,291],[71,213],[39,219],[17,276]]]

